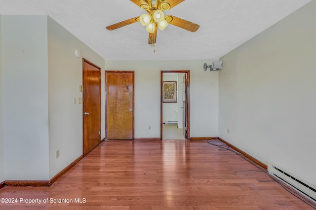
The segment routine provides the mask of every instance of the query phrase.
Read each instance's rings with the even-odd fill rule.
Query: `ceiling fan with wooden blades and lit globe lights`
[[[155,44],[157,39],[157,28],[164,30],[168,24],[180,27],[190,32],[196,32],[199,25],[187,20],[175,17],[173,15],[164,16],[163,10],[169,10],[178,5],[184,0],[131,0],[140,8],[144,9],[147,14],[134,17],[122,22],[106,27],[112,31],[132,23],[140,22],[146,26],[146,31],[149,32],[148,44]]]

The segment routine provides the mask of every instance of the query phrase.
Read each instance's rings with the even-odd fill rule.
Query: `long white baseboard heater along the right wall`
[[[291,175],[282,168],[269,163],[268,164],[269,174],[275,176],[277,179],[281,180],[294,190],[298,191],[305,197],[309,198],[311,201],[316,203],[316,188],[310,184],[304,182],[302,179],[298,178],[295,175]]]

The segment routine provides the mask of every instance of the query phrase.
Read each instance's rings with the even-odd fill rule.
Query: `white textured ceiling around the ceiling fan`
[[[0,0],[0,14],[48,14],[105,60],[195,60],[220,58],[309,1],[185,0],[165,15],[200,28],[158,30],[156,53],[140,23],[105,28],[145,13],[130,0]]]

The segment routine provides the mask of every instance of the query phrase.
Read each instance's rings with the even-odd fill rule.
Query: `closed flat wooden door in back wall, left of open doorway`
[[[134,139],[134,71],[106,71],[106,138]]]

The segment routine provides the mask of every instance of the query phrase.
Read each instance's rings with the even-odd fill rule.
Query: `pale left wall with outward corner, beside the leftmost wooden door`
[[[47,15],[0,18],[0,182],[49,180],[82,155],[82,57],[104,59]]]

